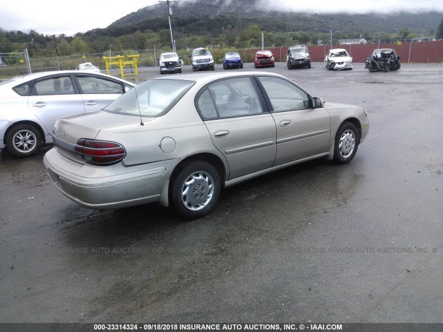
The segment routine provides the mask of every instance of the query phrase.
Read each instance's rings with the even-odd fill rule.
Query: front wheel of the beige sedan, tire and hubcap
[[[349,163],[359,148],[360,136],[355,124],[343,122],[338,128],[334,141],[334,162]]]

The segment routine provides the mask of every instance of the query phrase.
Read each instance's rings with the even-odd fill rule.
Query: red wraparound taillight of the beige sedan
[[[93,165],[113,165],[126,156],[125,148],[116,142],[80,138],[75,152]]]

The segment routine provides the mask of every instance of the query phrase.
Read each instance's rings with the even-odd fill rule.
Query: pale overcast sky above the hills
[[[178,0],[178,2],[187,0]],[[241,0],[233,0],[241,1]],[[90,0],[76,4],[60,0],[17,1],[1,0],[0,28],[36,30],[44,35],[75,35],[93,28],[106,28],[112,22],[136,10],[158,3],[159,0]],[[267,0],[267,8],[293,8],[301,12],[382,12],[399,10],[438,10],[443,12],[442,0]],[[337,5],[340,6],[337,6]],[[176,6],[176,4],[172,5]],[[346,10],[345,10],[346,9]]]

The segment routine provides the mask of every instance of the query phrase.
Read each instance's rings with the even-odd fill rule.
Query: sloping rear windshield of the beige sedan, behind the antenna
[[[194,85],[186,80],[149,80],[111,102],[103,111],[127,116],[163,116]]]

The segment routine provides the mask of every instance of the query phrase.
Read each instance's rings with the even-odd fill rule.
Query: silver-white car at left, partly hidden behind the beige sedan
[[[52,143],[55,120],[100,111],[135,86],[105,74],[46,71],[0,82],[0,149],[19,157]]]

